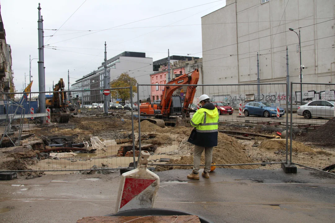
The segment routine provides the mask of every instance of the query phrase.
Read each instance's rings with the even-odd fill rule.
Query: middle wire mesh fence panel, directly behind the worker
[[[213,165],[275,169],[286,161],[286,139],[280,139],[287,121],[286,83],[260,84],[259,91],[257,84],[140,84],[137,90],[141,149],[151,153],[149,164],[157,170],[192,168],[194,145],[188,138],[194,127],[190,119],[199,109],[202,94],[209,96],[219,112]]]

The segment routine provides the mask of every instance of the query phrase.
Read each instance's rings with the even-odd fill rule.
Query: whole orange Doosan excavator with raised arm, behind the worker
[[[177,78],[172,79],[166,83],[174,86],[165,86],[163,90],[162,100],[160,104],[153,104],[150,102],[142,103],[140,105],[141,114],[155,115],[157,118],[162,116],[162,119],[167,119],[170,116],[182,115],[189,117],[189,105],[192,104],[197,86],[187,86],[184,104],[180,95],[174,95],[174,92],[181,88],[181,85],[197,85],[199,80],[199,70],[195,69],[187,74],[183,74]],[[161,122],[156,123],[162,125]]]

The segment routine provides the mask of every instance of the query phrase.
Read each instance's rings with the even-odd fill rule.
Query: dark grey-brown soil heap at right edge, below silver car
[[[330,119],[326,124],[308,133],[305,137],[298,139],[302,142],[310,142],[321,146],[335,146],[335,118]]]

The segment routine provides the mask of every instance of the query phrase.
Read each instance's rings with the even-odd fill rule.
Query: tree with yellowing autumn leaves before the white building
[[[128,73],[122,73],[117,79],[113,80],[110,83],[111,88],[123,88],[133,86],[133,93],[137,93],[136,87],[137,81],[135,78],[129,76]],[[130,100],[130,89],[116,89],[119,93],[119,98],[122,99],[122,102]],[[117,93],[115,91],[111,92],[113,98],[117,97]],[[132,95],[134,97],[134,94]]]

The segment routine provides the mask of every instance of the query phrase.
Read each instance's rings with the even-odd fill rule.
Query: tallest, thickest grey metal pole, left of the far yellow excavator
[[[39,91],[45,91],[45,76],[44,76],[44,61],[43,61],[43,40],[42,40],[42,20],[41,20],[41,6],[39,3],[39,20],[38,22],[38,34],[39,34],[39,61],[37,62],[39,65]],[[40,101],[40,113],[45,113],[45,93],[39,94]],[[45,117],[41,117],[41,124],[45,123]]]

